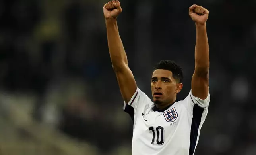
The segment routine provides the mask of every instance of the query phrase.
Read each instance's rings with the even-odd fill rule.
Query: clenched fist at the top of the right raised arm
[[[202,6],[194,4],[189,7],[188,14],[194,22],[205,24],[208,19],[209,11]]]

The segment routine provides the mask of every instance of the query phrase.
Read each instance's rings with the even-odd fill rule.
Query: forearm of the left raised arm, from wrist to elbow
[[[109,54],[114,69],[128,65],[124,46],[118,32],[116,19],[106,20]]]

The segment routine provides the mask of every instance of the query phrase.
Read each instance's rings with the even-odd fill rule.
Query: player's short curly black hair
[[[153,71],[162,69],[162,70],[169,70],[173,73],[173,78],[178,81],[178,83],[182,83],[183,80],[183,72],[182,68],[176,64],[174,61],[171,60],[161,60],[157,64],[155,64]]]

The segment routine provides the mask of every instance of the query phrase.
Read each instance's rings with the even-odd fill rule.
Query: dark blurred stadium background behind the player
[[[118,17],[138,87],[161,59],[194,69],[192,4],[209,9],[208,117],[196,155],[256,154],[256,0],[120,0]],[[107,48],[97,0],[0,1],[0,155],[131,155],[132,120]]]

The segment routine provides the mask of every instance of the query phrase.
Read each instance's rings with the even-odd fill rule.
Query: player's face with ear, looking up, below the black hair
[[[177,83],[169,70],[157,69],[151,79],[151,91],[156,104],[174,102],[176,94],[182,89],[182,83]]]

